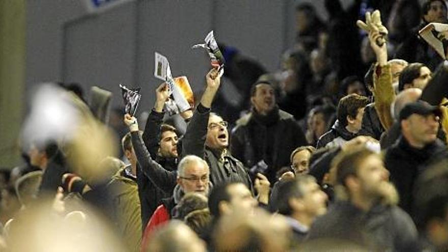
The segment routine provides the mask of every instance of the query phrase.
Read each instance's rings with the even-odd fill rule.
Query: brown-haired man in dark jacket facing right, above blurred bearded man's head
[[[341,146],[356,137],[361,129],[364,108],[368,103],[367,97],[357,94],[343,97],[338,104],[338,120],[319,138],[317,148]]]

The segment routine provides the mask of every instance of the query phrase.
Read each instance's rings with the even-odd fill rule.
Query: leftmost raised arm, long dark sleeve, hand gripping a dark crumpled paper
[[[124,122],[129,127],[132,136],[132,146],[135,157],[142,169],[143,174],[148,177],[160,190],[171,193],[177,184],[177,173],[165,170],[159,163],[151,158],[150,153],[143,143],[143,138],[138,131],[138,124],[135,117],[129,114],[124,116]]]

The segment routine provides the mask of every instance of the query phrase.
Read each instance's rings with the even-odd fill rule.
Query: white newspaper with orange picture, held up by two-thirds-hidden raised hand
[[[154,76],[167,83],[170,99],[165,102],[165,110],[170,116],[183,113],[194,106],[193,91],[187,77],[173,78],[170,63],[158,52],[155,52]]]

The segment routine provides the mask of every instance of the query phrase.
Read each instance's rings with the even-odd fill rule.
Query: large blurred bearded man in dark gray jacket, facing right
[[[314,221],[309,240],[348,240],[378,251],[411,249],[417,232],[409,215],[395,206],[397,191],[381,156],[367,146],[352,148],[338,154],[332,169],[339,200]]]

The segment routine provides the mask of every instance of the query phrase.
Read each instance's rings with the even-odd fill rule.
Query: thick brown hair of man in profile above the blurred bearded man
[[[338,104],[338,120],[341,123],[341,126],[347,126],[347,116],[351,118],[356,118],[358,114],[358,109],[365,107],[369,104],[369,99],[365,96],[361,96],[358,94],[350,94],[344,96]]]

